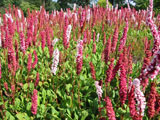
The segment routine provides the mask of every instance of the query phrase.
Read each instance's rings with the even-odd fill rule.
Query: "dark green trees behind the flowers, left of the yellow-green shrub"
[[[11,6],[18,6],[26,14],[28,8],[30,10],[39,10],[40,6],[43,5],[47,11],[51,12],[54,9],[71,8],[74,3],[78,6],[85,6],[90,3],[90,0],[58,0],[57,2],[53,2],[52,0],[0,0],[0,12],[3,14],[9,4]]]

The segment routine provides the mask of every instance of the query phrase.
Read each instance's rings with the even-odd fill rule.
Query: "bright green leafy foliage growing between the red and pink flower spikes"
[[[63,5],[64,8],[67,7],[67,3],[54,3],[50,0],[43,1],[45,2],[45,8],[48,11],[52,11],[54,9],[60,9],[60,6]],[[32,1],[32,0],[22,0],[22,1],[12,1],[8,0],[8,2],[3,2],[3,5],[6,7],[8,3],[16,4],[19,6],[25,14],[27,13],[27,9],[30,10],[39,10],[39,6],[43,3],[42,1]],[[71,2],[72,3],[72,2]],[[79,2],[78,5],[85,4],[83,1]],[[87,3],[88,4],[88,3]],[[102,7],[106,6],[105,0],[99,0],[98,4]],[[1,4],[2,5],[2,4]],[[158,6],[157,6],[158,7]],[[4,9],[2,9],[4,10]],[[157,8],[158,10],[158,8]],[[101,13],[100,13],[101,14]],[[26,14],[27,15],[27,14]],[[93,16],[92,16],[93,17]],[[16,18],[15,18],[16,19]],[[79,19],[79,18],[78,18]],[[93,18],[91,18],[93,19]],[[16,75],[12,76],[10,72],[8,72],[7,66],[7,49],[0,49],[0,58],[2,64],[2,79],[0,80],[0,86],[2,89],[3,102],[2,97],[0,97],[0,108],[1,113],[4,113],[5,120],[97,120],[99,119],[99,115],[106,117],[106,111],[103,109],[101,113],[99,113],[99,108],[105,108],[105,102],[103,98],[108,95],[112,101],[113,109],[115,111],[117,119],[121,119],[123,117],[124,120],[130,120],[130,111],[128,107],[128,100],[125,102],[124,106],[121,107],[121,103],[119,101],[119,75],[116,74],[116,77],[111,81],[111,83],[106,87],[105,86],[105,79],[106,79],[106,71],[108,70],[108,64],[105,64],[104,60],[102,60],[102,52],[106,45],[103,44],[103,32],[102,32],[102,21],[99,23],[95,23],[95,26],[92,28],[86,22],[85,30],[87,27],[91,31],[93,35],[93,31],[100,34],[99,42],[96,43],[96,53],[92,52],[93,50],[93,38],[91,37],[91,42],[84,44],[83,47],[83,67],[80,75],[76,74],[76,54],[77,54],[77,41],[73,39],[73,35],[78,35],[79,33],[79,26],[78,24],[75,26],[75,29],[71,32],[71,39],[70,39],[70,47],[68,49],[64,49],[63,47],[63,33],[59,29],[63,30],[64,21],[60,22],[56,21],[55,18],[50,26],[53,29],[54,37],[59,36],[60,39],[54,49],[58,48],[61,52],[60,63],[58,64],[58,70],[56,75],[51,73],[51,64],[52,58],[49,56],[49,48],[46,46],[44,50],[41,47],[41,38],[39,37],[39,33],[43,30],[46,25],[51,25],[51,23],[43,23],[43,27],[37,28],[37,39],[36,45],[29,46],[26,49],[26,54],[23,55],[22,51],[19,50],[19,66],[18,70],[16,71]],[[98,21],[98,22],[99,22]],[[104,21],[106,22],[106,14],[104,16]],[[41,22],[41,18],[38,19],[39,25]],[[46,21],[48,22],[48,21]],[[72,20],[70,20],[72,22]],[[130,21],[129,21],[130,22]],[[157,23],[156,23],[157,24]],[[123,29],[124,29],[124,21],[121,21],[119,24],[119,36],[118,36],[118,44],[119,40],[122,37]],[[58,26],[58,27],[57,27]],[[144,54],[144,42],[143,39],[147,37],[149,40],[153,40],[152,34],[149,28],[142,23],[139,28],[137,28],[136,24],[129,24],[129,31],[127,33],[127,41],[126,47],[131,45],[131,54],[133,55],[133,73],[131,75],[128,74],[128,78],[136,78],[139,76],[141,67],[143,64]],[[61,28],[60,28],[61,27]],[[113,36],[115,24],[104,24],[104,32],[106,33],[106,39],[109,38],[110,35]],[[58,31],[58,32],[57,32]],[[59,32],[60,31],[60,32]],[[25,37],[27,38],[27,28],[25,31]],[[62,35],[62,36],[61,36]],[[76,36],[75,36],[76,37]],[[18,32],[15,28],[15,35],[13,38],[14,40],[18,40],[20,45],[20,38]],[[53,40],[53,38],[50,39]],[[153,43],[153,42],[152,42]],[[14,44],[14,42],[13,42]],[[15,46],[13,45],[15,50]],[[33,50],[36,50],[38,56],[38,63],[35,69],[32,69],[30,73],[27,72],[27,60],[28,54],[32,53]],[[117,51],[112,52],[110,57],[114,57],[114,65],[116,65],[119,54]],[[16,53],[17,55],[17,53]],[[88,57],[86,57],[88,55]],[[32,58],[33,60],[33,58]],[[33,62],[33,61],[32,61]],[[102,94],[102,101],[98,101],[98,96],[96,93],[95,88],[95,80],[92,79],[91,75],[91,68],[89,62],[92,62],[95,66],[95,76],[96,80],[102,80],[103,83],[103,94]],[[126,67],[127,68],[127,67]],[[40,80],[38,85],[35,87],[34,83],[36,80],[36,73],[39,73]],[[16,85],[16,90],[14,96],[12,96],[11,90],[11,82],[14,80]],[[128,80],[128,79],[127,79]],[[29,83],[28,83],[29,81]],[[4,87],[4,82],[7,82],[9,85],[9,90],[6,90]],[[156,82],[159,82],[157,77]],[[19,84],[22,85],[19,85]],[[158,85],[157,85],[158,86]],[[158,88],[158,87],[157,87]],[[31,113],[31,105],[32,105],[32,95],[33,90],[38,90],[38,111],[36,115]],[[159,92],[159,88],[157,89]],[[146,93],[149,92],[149,89],[146,89]],[[146,95],[146,98],[148,95]],[[79,102],[80,97],[80,102]],[[0,118],[3,115],[0,113]],[[147,112],[145,112],[144,119],[147,120]],[[156,117],[155,117],[156,119]]]

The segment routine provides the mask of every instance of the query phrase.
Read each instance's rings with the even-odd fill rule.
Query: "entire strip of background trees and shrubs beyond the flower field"
[[[129,0],[129,2],[135,2],[135,7],[138,9],[146,9],[149,0]],[[66,8],[73,8],[73,4],[76,3],[78,6],[85,6],[89,5],[92,2],[97,2],[100,6],[105,7],[106,0],[58,0],[57,2],[53,2],[52,0],[0,0],[0,12],[3,14],[5,12],[5,8],[8,8],[8,5],[10,4],[18,6],[24,11],[24,14],[26,15],[27,9],[30,8],[30,10],[36,9],[39,10],[40,6],[45,6],[45,9],[49,12],[52,10],[60,10],[66,9]],[[126,7],[125,0],[109,0],[109,2],[116,6],[116,4],[119,4],[119,7],[123,6]],[[160,0],[154,0],[154,11],[156,15],[160,12]]]

